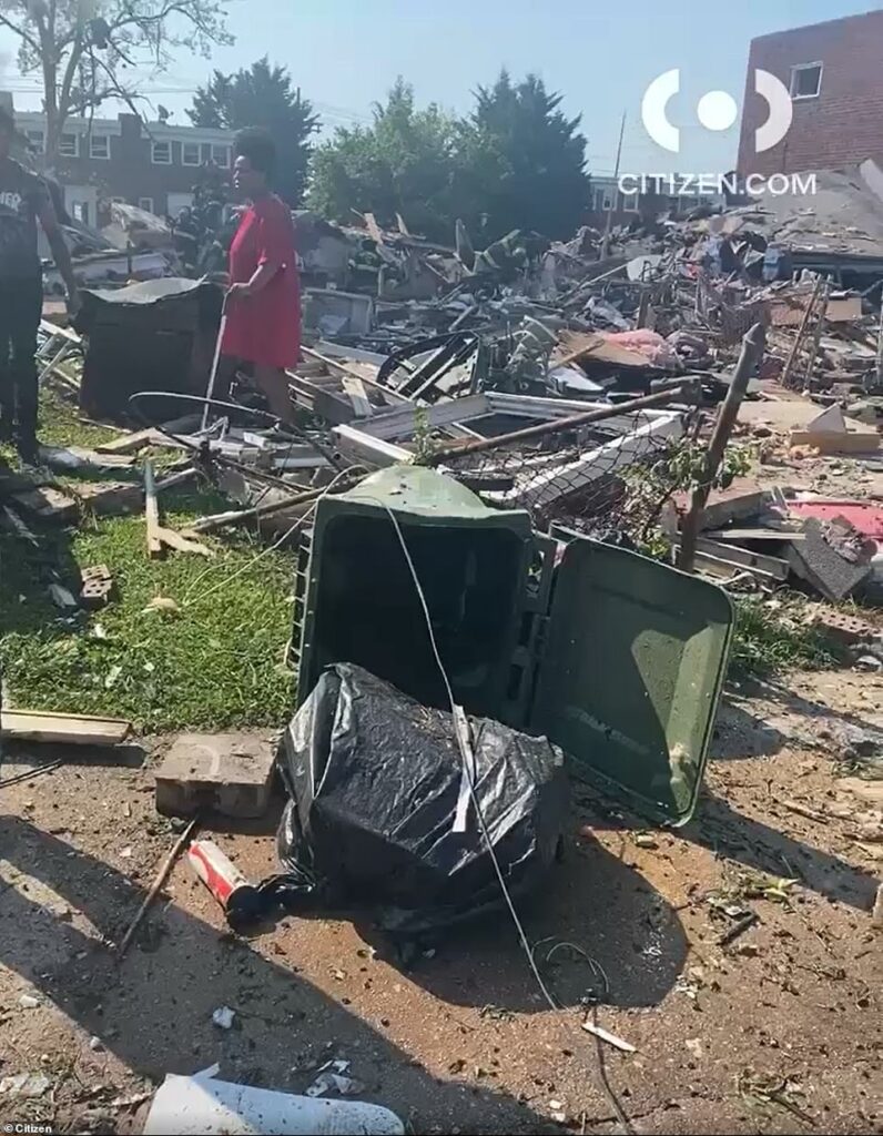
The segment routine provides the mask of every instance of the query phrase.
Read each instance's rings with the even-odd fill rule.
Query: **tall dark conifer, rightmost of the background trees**
[[[458,200],[474,223],[499,237],[514,228],[564,239],[582,224],[589,206],[585,139],[580,117],[567,118],[561,95],[527,75],[513,83],[500,72],[480,86],[476,107],[460,132]]]

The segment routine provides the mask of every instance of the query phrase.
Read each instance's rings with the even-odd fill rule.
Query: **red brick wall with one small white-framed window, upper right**
[[[820,65],[818,73],[814,65]],[[755,153],[755,131],[766,122],[768,107],[753,90],[758,67],[785,84],[793,108],[784,139],[761,153]],[[832,169],[867,158],[883,159],[883,11],[752,40],[739,173]]]

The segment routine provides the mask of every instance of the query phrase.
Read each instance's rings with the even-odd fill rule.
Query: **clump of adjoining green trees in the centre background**
[[[533,75],[514,84],[502,72],[475,98],[466,119],[418,110],[399,78],[369,126],[339,128],[316,149],[310,206],[334,220],[370,211],[390,226],[398,212],[449,244],[458,217],[478,248],[514,228],[570,236],[589,203],[580,119]]]

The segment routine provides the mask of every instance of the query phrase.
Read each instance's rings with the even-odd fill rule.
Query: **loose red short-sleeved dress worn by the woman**
[[[257,295],[231,304],[222,350],[259,367],[293,367],[300,359],[294,226],[289,207],[274,194],[242,215],[230,247],[231,283],[248,284],[260,265],[274,265],[276,275]]]

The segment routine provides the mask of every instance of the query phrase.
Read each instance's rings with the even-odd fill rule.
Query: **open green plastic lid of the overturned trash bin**
[[[553,586],[532,727],[655,820],[693,813],[726,669],[719,587],[588,537]]]

